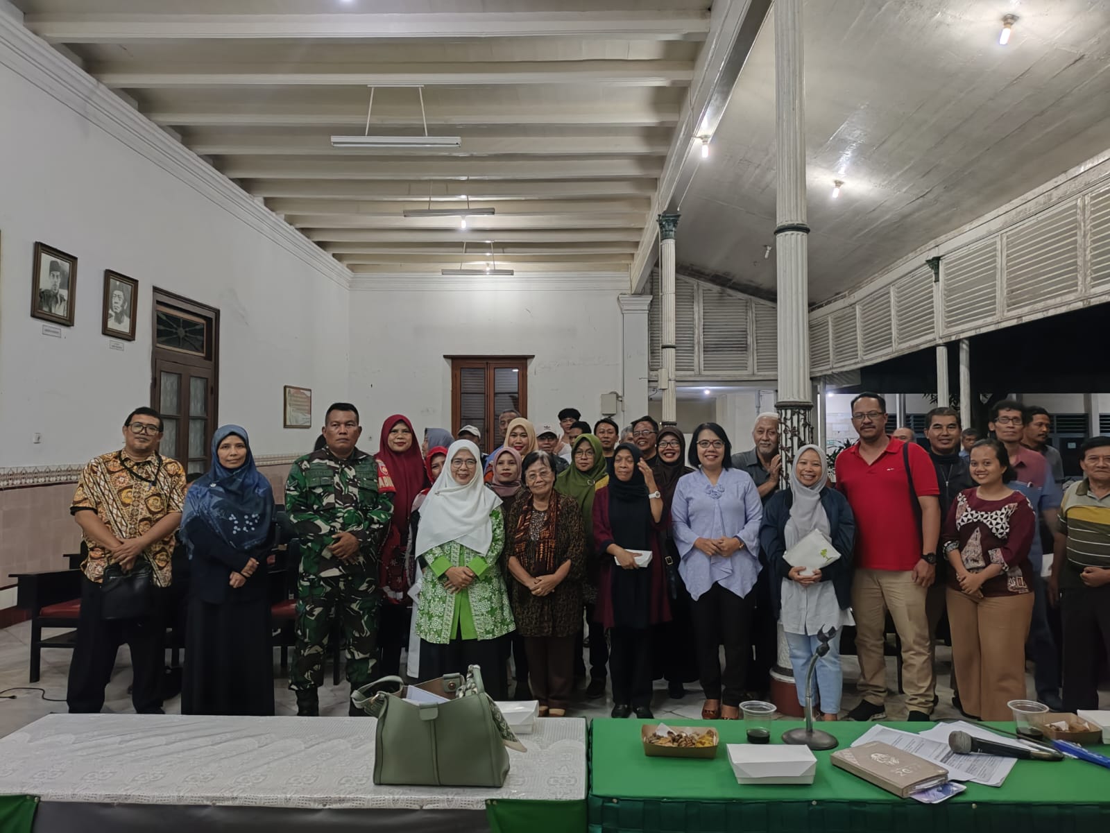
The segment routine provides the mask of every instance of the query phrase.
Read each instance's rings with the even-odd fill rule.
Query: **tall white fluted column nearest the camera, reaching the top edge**
[[[783,468],[813,440],[809,380],[809,278],[806,224],[806,109],[801,0],[775,3],[775,111],[778,151],[775,274],[778,402]]]

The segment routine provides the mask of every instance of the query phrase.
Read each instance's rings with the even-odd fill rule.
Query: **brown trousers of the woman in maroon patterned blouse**
[[[972,598],[948,588],[952,659],[963,711],[982,720],[1012,720],[1006,703],[1026,697],[1026,639],[1033,595]]]

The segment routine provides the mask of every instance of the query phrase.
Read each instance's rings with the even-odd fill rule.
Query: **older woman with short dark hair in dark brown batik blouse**
[[[586,539],[575,499],[555,491],[547,451],[524,458],[526,490],[505,518],[505,555],[513,583],[513,616],[524,638],[532,694],[541,715],[566,714],[574,685],[574,652],[582,628]]]

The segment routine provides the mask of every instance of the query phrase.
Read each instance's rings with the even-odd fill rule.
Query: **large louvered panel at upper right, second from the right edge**
[[[1008,231],[1006,308],[1018,309],[1079,289],[1079,206],[1072,202]]]

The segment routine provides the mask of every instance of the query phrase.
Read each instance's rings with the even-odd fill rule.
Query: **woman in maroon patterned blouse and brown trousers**
[[[1029,545],[1037,516],[1006,486],[1013,479],[1006,446],[971,447],[971,479],[945,522],[948,621],[963,711],[977,720],[1009,720],[1007,702],[1026,697],[1026,638],[1033,612]]]

